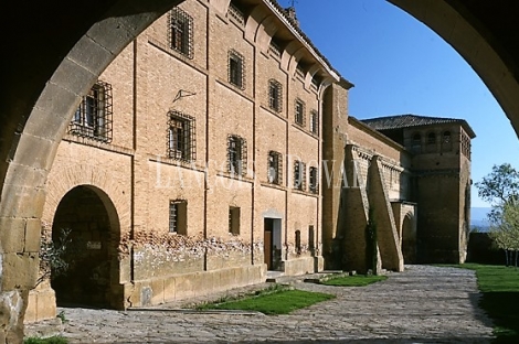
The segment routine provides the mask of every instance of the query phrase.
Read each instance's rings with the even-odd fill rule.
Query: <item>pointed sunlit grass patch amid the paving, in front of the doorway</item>
[[[271,290],[260,291],[237,300],[221,300],[214,303],[206,303],[198,307],[198,309],[256,311],[268,315],[288,314],[295,310],[333,298],[335,295],[321,292],[275,287]]]

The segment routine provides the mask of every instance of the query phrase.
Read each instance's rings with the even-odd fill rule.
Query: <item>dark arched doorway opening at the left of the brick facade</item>
[[[113,288],[118,284],[119,221],[114,204],[102,190],[80,185],[61,200],[52,224],[57,241],[63,230],[70,240],[65,273],[51,276],[61,305],[117,307]],[[54,272],[54,271],[53,271]]]

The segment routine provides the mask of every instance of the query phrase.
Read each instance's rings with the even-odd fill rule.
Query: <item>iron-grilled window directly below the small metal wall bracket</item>
[[[180,111],[168,112],[168,157],[174,160],[197,159],[194,118]]]

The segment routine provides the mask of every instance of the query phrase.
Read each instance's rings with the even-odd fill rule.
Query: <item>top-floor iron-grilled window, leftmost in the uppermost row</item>
[[[169,12],[169,43],[172,50],[193,58],[193,18],[180,8]]]

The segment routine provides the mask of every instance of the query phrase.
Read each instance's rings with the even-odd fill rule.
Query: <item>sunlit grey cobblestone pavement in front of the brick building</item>
[[[368,287],[341,288],[286,279],[297,289],[336,299],[289,315],[199,313],[180,307],[128,311],[60,308],[67,322],[27,326],[28,335],[54,326],[71,343],[489,343],[491,322],[478,309],[474,271],[406,266]],[[299,280],[300,281],[300,280]],[[258,284],[230,294],[265,288]],[[227,293],[229,294],[229,293]],[[221,294],[212,295],[219,298]]]

